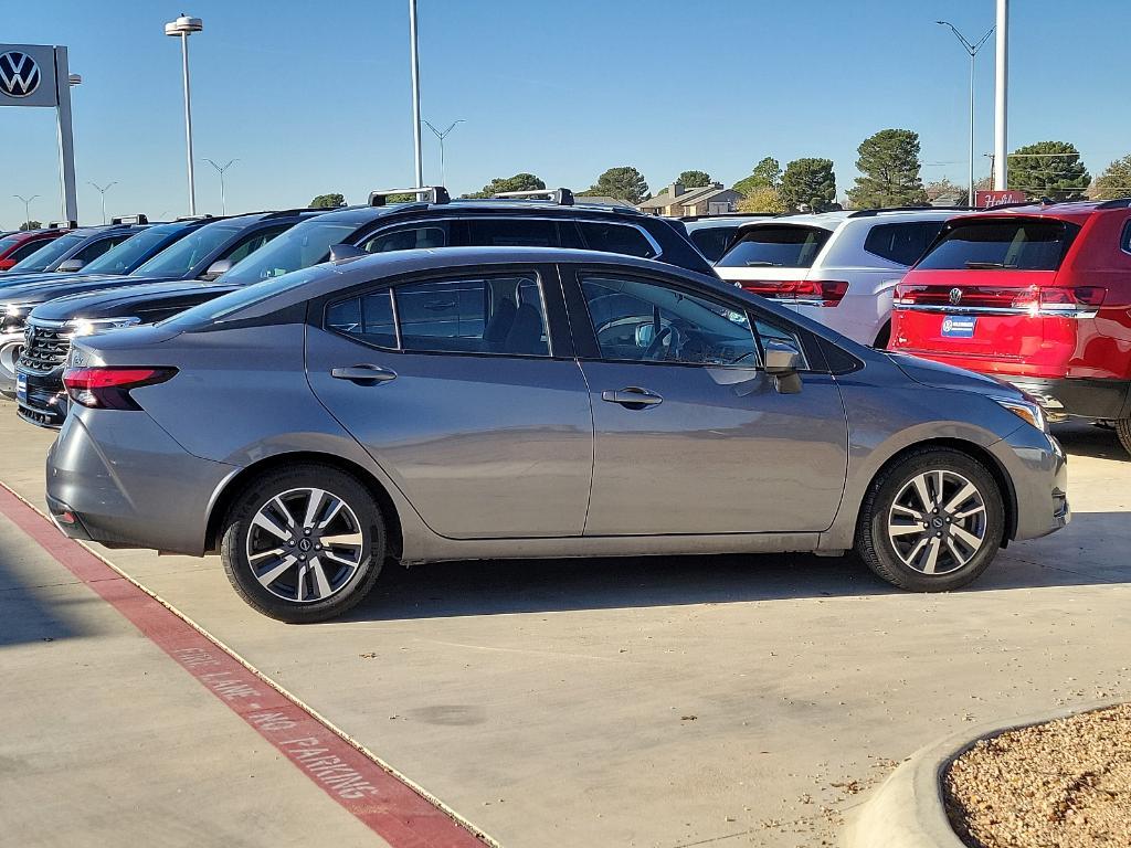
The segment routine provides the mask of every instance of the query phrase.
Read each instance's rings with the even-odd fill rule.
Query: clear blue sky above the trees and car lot
[[[66,44],[75,92],[79,211],[87,181],[119,184],[111,214],[187,211],[180,49],[162,33],[204,18],[190,43],[198,158],[239,157],[228,210],[361,202],[412,181],[407,0],[0,0],[0,42]],[[1074,142],[1091,173],[1131,153],[1125,73],[1131,2],[1013,0],[1010,148]],[[923,176],[965,182],[968,37],[993,0],[420,0],[422,112],[447,142],[454,192],[530,171],[587,188],[630,164],[655,189],[701,168],[732,183],[758,159],[836,163],[886,127],[921,135]],[[978,152],[993,146],[993,44],[978,55]],[[981,157],[979,157],[981,158]],[[52,110],[0,110],[0,228],[55,218]],[[425,181],[439,180],[425,132]],[[988,159],[978,173],[988,171]],[[219,183],[197,167],[200,211]]]

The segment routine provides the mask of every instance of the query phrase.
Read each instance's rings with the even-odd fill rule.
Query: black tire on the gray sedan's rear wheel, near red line
[[[277,582],[273,583],[273,588],[269,589],[256,577],[256,570],[248,554],[249,545],[258,542],[264,533],[262,529],[257,528],[252,523],[259,511],[267,508],[273,499],[276,497],[297,499],[301,495],[294,493],[301,492],[304,488],[322,490],[333,495],[333,497],[343,501],[347,509],[339,510],[337,513],[339,517],[333,520],[348,522],[348,528],[353,535],[356,536],[360,534],[361,536],[361,550],[356,554],[356,559],[359,560],[356,565],[335,565],[329,560],[327,560],[326,564],[320,564],[320,568],[323,569],[323,580],[325,574],[331,568],[337,569],[336,573],[340,573],[342,577],[340,585],[333,586],[333,591],[328,592],[326,597],[316,600],[288,599],[280,597],[277,590],[273,590],[275,587],[283,585],[280,581],[290,580],[292,587],[297,587],[300,583],[303,587],[303,589],[295,590],[300,597],[304,589],[310,589],[313,592],[314,589],[312,587],[316,586],[314,577],[312,572],[305,571],[305,566],[299,563],[288,566],[290,570],[284,571],[283,576],[277,578]],[[330,503],[333,504],[333,502]],[[288,510],[291,509],[293,508],[288,503]],[[329,508],[327,508],[328,511]],[[356,520],[356,528],[353,527],[354,520]],[[280,542],[279,550],[282,551],[280,557],[291,554],[303,556],[303,563],[305,563],[307,554],[300,554],[299,546],[309,546],[313,542],[320,540],[318,534],[321,530],[316,523],[314,536],[304,539],[300,535],[301,527],[299,526],[301,523],[302,519],[295,522],[294,539],[291,542]],[[334,525],[333,527],[340,529],[342,526]],[[381,564],[385,562],[385,521],[372,494],[353,475],[323,465],[302,464],[292,468],[268,471],[264,476],[256,478],[243,488],[233,502],[224,520],[222,530],[221,561],[224,563],[224,573],[227,574],[227,579],[231,581],[236,594],[257,612],[291,624],[304,624],[333,618],[359,604],[369,594],[370,589],[373,588],[377,577],[381,572]],[[251,534],[256,534],[256,536],[249,540]],[[268,536],[268,538],[271,537],[274,535]],[[322,548],[319,547],[318,550],[321,551]],[[327,546],[326,550],[329,551],[330,547]],[[312,548],[308,550],[308,553],[311,565],[313,565],[313,561],[318,556],[327,559]],[[282,564],[280,560],[279,562]],[[300,571],[300,569],[303,569],[303,571]],[[327,583],[327,586],[330,586],[330,583]]]

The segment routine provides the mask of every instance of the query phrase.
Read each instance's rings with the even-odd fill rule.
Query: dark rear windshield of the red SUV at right
[[[1080,227],[1063,220],[972,220],[948,228],[917,268],[1054,271]]]

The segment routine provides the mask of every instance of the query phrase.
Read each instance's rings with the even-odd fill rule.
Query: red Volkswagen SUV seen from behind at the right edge
[[[1131,199],[952,218],[896,288],[889,348],[1008,380],[1131,451]]]

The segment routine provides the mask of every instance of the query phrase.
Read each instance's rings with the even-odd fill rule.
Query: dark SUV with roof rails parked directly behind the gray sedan
[[[451,201],[442,188],[413,191],[429,199],[386,205],[387,197],[405,192],[375,191],[368,207],[325,213],[257,251],[213,286],[96,292],[37,308],[29,328],[35,331],[36,346],[28,344],[28,354],[19,365],[25,374],[19,415],[45,427],[58,427],[66,417],[68,400],[60,380],[69,346],[61,337],[69,335],[66,322],[85,330],[95,326],[94,319],[103,327],[161,320],[234,288],[326,261],[331,248],[339,256],[363,256],[417,246],[584,243],[710,272],[710,266],[688,242],[680,222],[646,216],[631,207],[575,202],[568,189],[458,201]],[[147,314],[137,314],[140,311]]]

